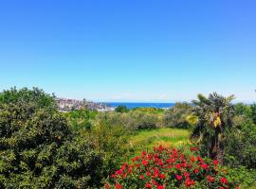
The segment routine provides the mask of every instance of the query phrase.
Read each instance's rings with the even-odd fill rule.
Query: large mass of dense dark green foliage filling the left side
[[[1,188],[101,185],[101,150],[95,149],[92,139],[72,133],[53,101],[53,96],[37,89],[1,94]]]

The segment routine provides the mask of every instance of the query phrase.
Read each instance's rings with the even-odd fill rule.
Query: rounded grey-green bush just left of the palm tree
[[[175,103],[174,107],[164,113],[164,125],[170,128],[189,128],[187,121],[192,106],[189,103]]]

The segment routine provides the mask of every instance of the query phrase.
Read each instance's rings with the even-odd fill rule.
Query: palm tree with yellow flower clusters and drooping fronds
[[[197,138],[197,142],[207,149],[208,156],[219,163],[223,163],[225,140],[232,127],[234,108],[230,102],[233,99],[233,95],[224,97],[213,93],[208,98],[198,94],[198,99],[192,101],[192,112],[197,120],[192,138]]]

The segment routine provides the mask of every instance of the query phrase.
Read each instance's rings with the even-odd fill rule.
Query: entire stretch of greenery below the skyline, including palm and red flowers
[[[37,88],[3,91],[0,188],[253,188],[256,105],[232,99],[58,112]]]

